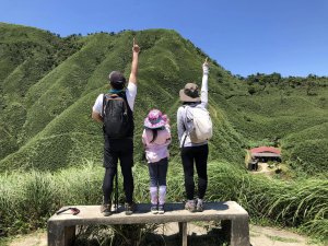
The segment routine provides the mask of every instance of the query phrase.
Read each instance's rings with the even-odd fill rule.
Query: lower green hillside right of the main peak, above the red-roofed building
[[[305,87],[286,87],[285,95],[269,87],[247,96],[227,101],[239,112],[230,120],[253,142],[269,143],[282,149],[283,160],[297,173],[327,176],[328,173],[328,98],[327,86],[316,95],[306,95]],[[243,118],[244,120],[241,120]]]

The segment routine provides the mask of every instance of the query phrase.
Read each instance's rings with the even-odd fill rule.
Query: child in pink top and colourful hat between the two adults
[[[144,119],[142,143],[149,163],[151,212],[164,213],[171,130],[166,115],[152,109]],[[157,196],[159,192],[159,196]]]

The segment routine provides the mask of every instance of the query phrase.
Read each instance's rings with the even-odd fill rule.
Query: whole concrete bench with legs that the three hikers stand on
[[[164,214],[152,214],[149,203],[137,204],[132,215],[126,215],[124,208],[118,213],[104,216],[99,206],[69,206],[80,209],[78,215],[69,211],[52,215],[48,220],[48,246],[68,246],[74,239],[75,225],[148,224],[178,222],[183,245],[187,245],[187,222],[221,221],[232,246],[249,246],[248,213],[234,201],[206,202],[203,212],[190,213],[184,203],[165,204]],[[66,208],[66,207],[65,207]]]

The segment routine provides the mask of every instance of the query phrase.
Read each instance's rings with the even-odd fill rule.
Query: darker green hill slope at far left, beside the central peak
[[[30,90],[80,46],[71,37],[0,23],[0,159],[17,151],[28,138],[23,127],[32,102],[38,98],[28,96]]]

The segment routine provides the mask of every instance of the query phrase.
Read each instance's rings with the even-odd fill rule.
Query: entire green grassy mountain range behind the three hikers
[[[56,171],[102,162],[102,128],[91,119],[96,96],[108,89],[112,70],[127,77],[132,37],[141,47],[134,109],[136,161],[141,159],[142,122],[149,109],[168,115],[176,134],[178,91],[201,82],[201,49],[175,31],[125,31],[65,38],[32,27],[0,23],[1,172]],[[243,167],[245,149],[278,144],[292,168],[328,172],[327,86],[308,89],[248,83],[211,61],[210,112],[214,138],[210,160]],[[177,139],[171,149],[179,160]]]

